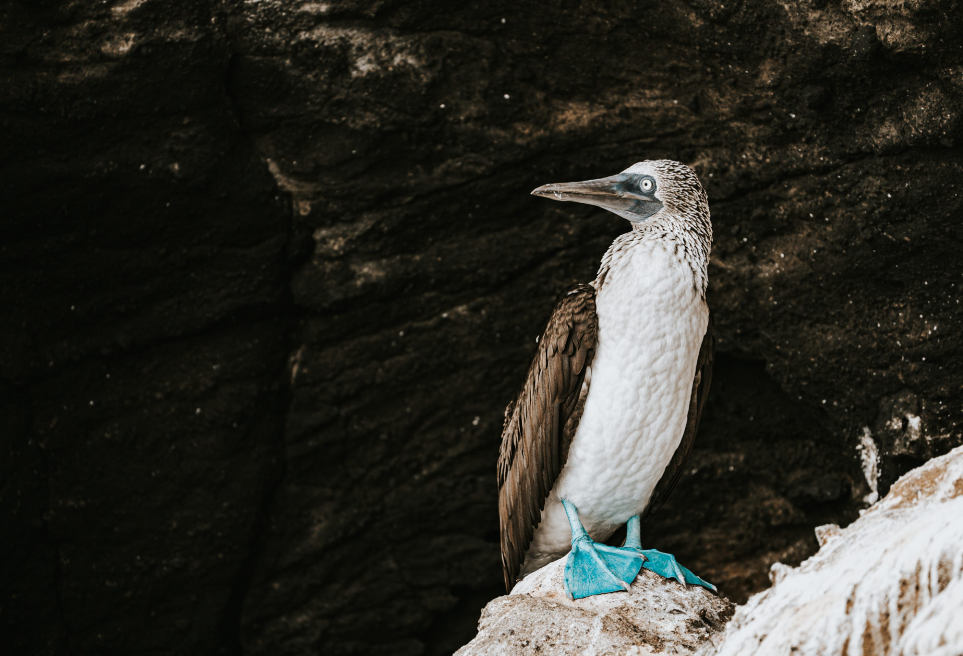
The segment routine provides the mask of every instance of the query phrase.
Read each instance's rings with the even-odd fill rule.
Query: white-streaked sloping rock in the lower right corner
[[[702,654],[963,654],[963,447],[893,485],[820,552],[774,565],[773,586],[739,607]]]

